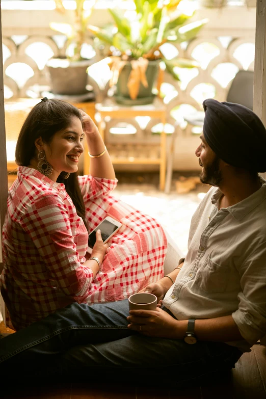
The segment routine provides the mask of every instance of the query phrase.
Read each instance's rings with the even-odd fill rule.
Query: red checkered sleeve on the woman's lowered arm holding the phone
[[[93,272],[82,265],[73,240],[67,206],[58,195],[43,195],[28,207],[21,227],[34,242],[55,285],[82,303]]]

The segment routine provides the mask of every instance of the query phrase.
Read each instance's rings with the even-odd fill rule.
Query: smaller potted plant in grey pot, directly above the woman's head
[[[81,95],[81,100],[85,100],[88,91],[86,85],[88,81],[87,68],[92,64],[92,60],[83,58],[81,55],[82,45],[86,41],[88,20],[91,16],[94,2],[91,7],[84,10],[85,0],[74,0],[76,4],[74,12],[74,23],[51,22],[52,30],[63,33],[67,36],[67,50],[69,45],[73,46],[73,54],[70,56],[67,51],[66,57],[51,58],[47,62],[50,75],[51,91],[55,95]],[[65,13],[63,0],[56,0],[56,8],[59,12]]]

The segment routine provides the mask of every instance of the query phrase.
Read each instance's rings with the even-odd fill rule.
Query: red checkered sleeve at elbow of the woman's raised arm
[[[85,204],[87,201],[109,195],[116,188],[117,182],[117,179],[102,179],[91,175],[78,176],[78,184]]]

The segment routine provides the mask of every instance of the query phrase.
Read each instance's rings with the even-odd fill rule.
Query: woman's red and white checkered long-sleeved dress
[[[88,175],[78,181],[89,232],[107,216],[122,223],[95,278],[83,265],[88,232],[64,184],[35,169],[18,168],[8,196],[0,281],[16,330],[75,301],[128,298],[163,276],[167,240],[161,225],[109,195],[117,180]]]

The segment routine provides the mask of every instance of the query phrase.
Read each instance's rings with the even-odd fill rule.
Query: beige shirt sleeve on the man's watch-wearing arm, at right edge
[[[253,345],[266,334],[266,243],[252,252],[240,276],[242,291],[232,317],[243,338]]]

